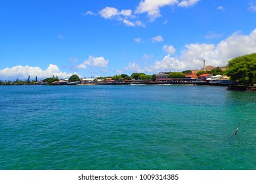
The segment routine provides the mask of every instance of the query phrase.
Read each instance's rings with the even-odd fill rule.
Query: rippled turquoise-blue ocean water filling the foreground
[[[256,93],[0,86],[0,169],[256,169]]]

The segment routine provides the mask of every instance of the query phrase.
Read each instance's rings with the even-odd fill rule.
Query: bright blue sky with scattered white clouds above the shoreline
[[[256,52],[256,1],[1,1],[0,80],[184,71]]]

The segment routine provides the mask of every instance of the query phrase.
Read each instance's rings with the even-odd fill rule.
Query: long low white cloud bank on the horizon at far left
[[[53,64],[50,64],[44,71],[40,67],[30,67],[28,65],[18,65],[0,70],[1,80],[25,79],[28,78],[28,76],[30,76],[30,78],[35,78],[35,76],[37,76],[37,78],[47,78],[53,75],[59,78],[69,78],[72,73],[61,72],[58,66]]]

